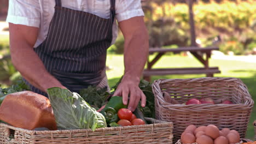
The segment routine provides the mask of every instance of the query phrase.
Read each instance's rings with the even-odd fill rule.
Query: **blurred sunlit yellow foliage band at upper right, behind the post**
[[[240,29],[247,29],[253,21],[256,19],[256,7],[252,7],[255,4],[254,0],[250,1],[238,1],[230,2],[223,1],[222,3],[216,3],[211,1],[210,3],[203,3],[199,1],[194,4],[194,15],[196,27],[202,28],[228,28],[231,32]],[[181,23],[182,26],[189,28],[189,16],[188,5],[172,4],[165,2],[162,5],[152,3],[153,20],[156,21],[163,15],[167,17],[174,17],[177,23]],[[166,11],[163,11],[162,7],[165,7]],[[231,29],[229,29],[231,28]]]

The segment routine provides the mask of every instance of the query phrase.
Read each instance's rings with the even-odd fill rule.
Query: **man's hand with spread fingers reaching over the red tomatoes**
[[[141,100],[141,106],[146,105],[146,96],[138,87],[139,79],[133,80],[134,78],[124,75],[121,83],[118,85],[117,90],[114,93],[114,96],[123,96],[124,105],[128,104],[128,109],[134,111]],[[129,97],[130,95],[130,97]],[[129,100],[130,98],[130,100]]]

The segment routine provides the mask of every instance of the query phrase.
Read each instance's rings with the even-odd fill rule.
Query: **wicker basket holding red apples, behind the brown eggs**
[[[190,124],[197,127],[214,124],[219,129],[237,130],[241,138],[245,137],[254,102],[240,79],[231,77],[160,79],[156,80],[152,87],[155,95],[156,118],[173,122],[173,141],[177,141]],[[167,103],[162,97],[162,92],[169,93],[181,104]],[[182,104],[191,98],[217,100],[226,97],[235,104]]]

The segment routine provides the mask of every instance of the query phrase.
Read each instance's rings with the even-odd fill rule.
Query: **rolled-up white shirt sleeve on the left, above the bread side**
[[[39,27],[39,0],[9,0],[9,9],[6,21],[19,25]]]

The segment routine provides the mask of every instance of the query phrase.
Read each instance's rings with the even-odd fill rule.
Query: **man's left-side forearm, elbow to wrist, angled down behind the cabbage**
[[[61,83],[48,73],[43,62],[30,45],[22,41],[16,41],[16,43],[11,43],[10,50],[11,60],[15,68],[33,86],[44,92],[50,87],[63,88]]]

